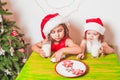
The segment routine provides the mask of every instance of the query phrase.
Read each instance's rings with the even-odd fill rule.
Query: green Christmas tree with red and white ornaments
[[[26,47],[24,34],[16,26],[15,21],[6,19],[12,15],[0,1],[0,80],[15,80],[26,61]]]

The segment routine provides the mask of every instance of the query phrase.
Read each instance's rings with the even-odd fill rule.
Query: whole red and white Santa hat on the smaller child
[[[90,18],[86,19],[86,24],[84,25],[84,32],[87,30],[95,30],[101,35],[104,35],[105,28],[100,18]]]

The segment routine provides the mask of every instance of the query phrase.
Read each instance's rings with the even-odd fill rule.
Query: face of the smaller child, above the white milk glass
[[[87,40],[95,40],[99,39],[100,34],[97,31],[94,30],[88,30],[86,32],[86,39]]]

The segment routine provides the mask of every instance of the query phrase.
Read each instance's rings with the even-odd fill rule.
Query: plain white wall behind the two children
[[[2,0],[8,1],[8,0]],[[48,1],[48,2],[46,2]],[[47,13],[59,12],[71,19],[81,30],[85,19],[100,17],[107,29],[105,40],[120,52],[120,0],[9,0],[18,22],[30,37],[31,43],[40,41],[40,22]],[[59,4],[58,4],[59,2]],[[57,5],[54,5],[57,4]],[[118,53],[119,53],[118,52]]]

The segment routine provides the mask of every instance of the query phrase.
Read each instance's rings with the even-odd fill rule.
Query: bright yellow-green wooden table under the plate
[[[66,59],[75,59],[70,55]],[[16,80],[120,80],[120,62],[116,54],[92,58],[90,54],[80,60],[88,66],[88,72],[77,78],[65,78],[58,75],[54,68],[56,63],[50,58],[42,58],[33,52],[22,68]]]

